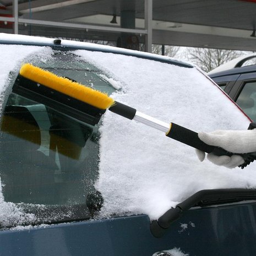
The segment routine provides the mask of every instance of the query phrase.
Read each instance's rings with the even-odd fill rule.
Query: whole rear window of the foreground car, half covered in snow
[[[245,176],[239,168],[201,163],[193,148],[111,111],[97,113],[96,122],[93,110],[69,97],[52,96],[65,105],[60,109],[44,105],[37,90],[25,95],[25,79],[18,91],[21,64],[32,63],[195,132],[248,127],[247,117],[197,68],[117,48],[75,47],[0,44],[1,227],[135,214],[156,220],[199,190],[255,186],[253,165]]]

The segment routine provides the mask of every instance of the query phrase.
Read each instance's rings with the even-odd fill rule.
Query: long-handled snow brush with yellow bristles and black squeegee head
[[[103,92],[81,85],[68,78],[59,77],[47,70],[26,63],[20,68],[15,80],[13,92],[37,101],[58,112],[74,117],[80,121],[95,125],[106,109],[117,115],[146,124],[165,132],[166,136],[181,143],[192,146],[206,153],[215,155],[235,155],[225,149],[211,146],[198,138],[198,133],[175,123],[165,123],[156,118],[145,115],[133,107],[129,107],[113,100]],[[244,168],[256,159],[256,152],[241,155]]]

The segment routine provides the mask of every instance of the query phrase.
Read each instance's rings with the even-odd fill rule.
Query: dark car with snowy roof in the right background
[[[208,73],[252,121],[256,121],[255,58],[255,53],[241,56]]]

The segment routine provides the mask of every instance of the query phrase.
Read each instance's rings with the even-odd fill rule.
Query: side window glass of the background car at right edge
[[[256,81],[244,84],[236,103],[253,121],[256,121]]]

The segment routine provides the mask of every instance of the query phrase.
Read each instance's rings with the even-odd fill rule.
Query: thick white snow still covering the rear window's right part
[[[161,121],[196,132],[248,127],[246,116],[196,68],[112,53],[77,54],[121,82],[114,99]],[[148,214],[154,220],[201,189],[256,185],[255,165],[242,171],[201,163],[193,148],[110,111],[100,130],[96,188],[105,200],[102,216]]]

